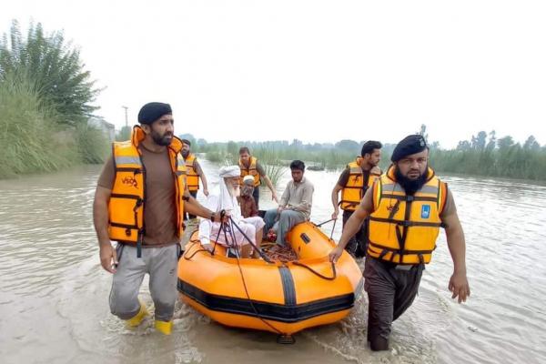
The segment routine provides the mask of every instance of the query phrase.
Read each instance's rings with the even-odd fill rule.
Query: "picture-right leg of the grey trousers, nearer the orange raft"
[[[146,258],[150,275],[150,294],[156,307],[156,320],[170,321],[177,301],[177,246],[145,250],[151,250]]]

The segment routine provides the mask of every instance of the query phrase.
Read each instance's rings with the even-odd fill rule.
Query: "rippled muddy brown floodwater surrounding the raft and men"
[[[217,166],[202,160],[209,184]],[[440,235],[420,295],[393,326],[389,352],[366,342],[367,298],[348,319],[297,335],[228,329],[178,304],[175,332],[148,320],[125,329],[109,314],[111,277],[97,258],[91,203],[100,167],[0,181],[0,357],[3,363],[460,363],[546,362],[546,187],[523,182],[444,177],[467,239],[472,295],[450,299],[450,254]],[[338,172],[312,172],[312,220],[329,219]],[[288,173],[279,183],[282,192]],[[201,198],[202,196],[199,196]],[[267,188],[263,207],[275,207]],[[334,238],[339,238],[341,223]],[[330,235],[333,224],[324,225]],[[362,262],[360,262],[362,267]],[[147,284],[141,297],[152,305]]]

